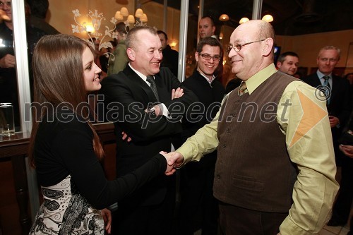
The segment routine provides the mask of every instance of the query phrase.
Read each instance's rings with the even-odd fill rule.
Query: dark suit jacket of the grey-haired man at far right
[[[302,78],[302,80],[314,88],[322,85],[317,73],[306,76],[305,78]],[[330,104],[328,105],[328,115],[336,116],[338,119],[340,119],[340,128],[331,128],[337,164],[340,164],[339,158],[342,156],[342,153],[340,150],[338,150],[337,139],[340,138],[342,128],[346,125],[349,119],[351,109],[352,96],[350,95],[348,80],[341,78],[340,76],[333,75],[333,85],[330,96]]]

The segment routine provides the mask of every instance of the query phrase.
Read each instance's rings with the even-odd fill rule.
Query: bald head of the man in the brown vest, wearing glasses
[[[247,80],[273,63],[275,31],[263,20],[249,20],[239,25],[230,36],[229,59],[232,72]]]

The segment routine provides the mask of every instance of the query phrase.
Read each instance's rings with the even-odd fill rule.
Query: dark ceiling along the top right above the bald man
[[[163,0],[152,0],[163,4]],[[167,1],[180,9],[180,0]],[[191,20],[198,20],[198,0],[189,0]],[[217,25],[236,28],[243,17],[251,18],[253,0],[204,0],[203,16],[212,16]],[[226,13],[230,20],[218,18]],[[353,0],[263,0],[262,16],[270,13],[276,35],[304,35],[353,29]],[[217,27],[219,28],[219,27]]]

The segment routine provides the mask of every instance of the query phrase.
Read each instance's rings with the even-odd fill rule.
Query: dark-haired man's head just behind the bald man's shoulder
[[[277,59],[277,70],[282,73],[287,73],[290,76],[298,71],[299,56],[295,52],[285,52],[280,54]]]

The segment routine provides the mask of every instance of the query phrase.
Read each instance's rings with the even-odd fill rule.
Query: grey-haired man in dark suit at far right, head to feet
[[[342,134],[342,129],[346,126],[349,114],[352,110],[352,97],[350,96],[348,80],[334,74],[335,66],[339,60],[339,48],[333,46],[323,47],[318,52],[318,57],[316,59],[318,70],[316,73],[303,78],[304,82],[314,88],[323,90],[325,93],[324,99],[327,102],[328,120],[330,121],[337,164],[336,179],[341,186],[340,194],[333,210],[333,217],[328,222],[329,226],[344,226],[349,217],[351,207],[350,202],[342,203],[342,201],[340,201],[342,194],[347,192],[345,188],[347,185],[344,181],[352,181],[350,178],[351,174],[349,174],[349,171],[352,171],[352,167],[350,167],[351,163],[349,163],[350,159],[340,151],[340,143],[338,143],[340,135]],[[345,197],[345,195],[343,195],[343,197]],[[340,206],[337,207],[337,205]]]

